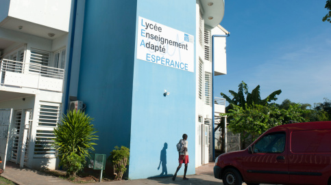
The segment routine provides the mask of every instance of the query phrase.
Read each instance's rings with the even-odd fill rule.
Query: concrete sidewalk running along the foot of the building
[[[176,180],[171,180],[171,177],[158,177],[158,178],[149,178],[143,180],[122,180],[115,182],[93,182],[87,184],[202,184],[202,185],[221,185],[221,180],[217,180],[214,178],[212,169],[214,167],[214,163],[209,163],[208,165],[203,165],[197,169],[195,169],[195,175],[187,175],[189,180],[182,180],[182,176],[177,176]],[[12,180],[16,184],[20,185],[55,185],[55,184],[71,184],[74,183],[69,182],[67,180],[62,180],[59,177],[53,177],[52,175],[48,175],[41,171],[37,171],[34,169],[20,169],[18,165],[7,162],[5,171],[1,176],[7,178],[8,180]]]

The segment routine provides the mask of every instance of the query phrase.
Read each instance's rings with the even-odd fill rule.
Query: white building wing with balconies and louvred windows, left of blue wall
[[[1,1],[3,163],[56,167],[51,132],[62,113],[70,11],[71,1],[66,0]]]

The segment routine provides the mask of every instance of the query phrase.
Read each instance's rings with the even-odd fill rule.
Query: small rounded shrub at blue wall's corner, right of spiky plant
[[[130,150],[124,146],[121,146],[121,148],[116,146],[115,149],[110,152],[108,160],[112,162],[112,166],[114,167],[115,180],[122,179],[126,171],[126,166],[129,165],[129,157]]]

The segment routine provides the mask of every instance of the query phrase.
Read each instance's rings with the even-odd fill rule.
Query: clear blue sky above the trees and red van
[[[225,0],[227,74],[215,76],[214,96],[230,96],[244,81],[249,91],[260,85],[262,99],[281,89],[278,104],[331,100],[331,23],[322,21],[325,5],[326,0]]]

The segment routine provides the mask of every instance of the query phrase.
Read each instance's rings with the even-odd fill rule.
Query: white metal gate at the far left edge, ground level
[[[0,168],[5,169],[7,158],[10,124],[12,122],[12,109],[0,109]]]

